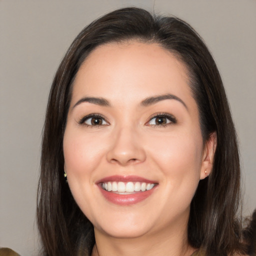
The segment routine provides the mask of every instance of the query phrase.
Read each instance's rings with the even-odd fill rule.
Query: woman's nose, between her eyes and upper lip
[[[111,146],[106,154],[108,162],[125,166],[145,160],[146,154],[143,143],[134,129],[123,127],[113,133]]]

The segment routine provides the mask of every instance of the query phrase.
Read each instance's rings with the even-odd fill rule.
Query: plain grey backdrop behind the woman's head
[[[52,77],[86,24],[128,5],[177,15],[206,41],[240,140],[244,214],[256,207],[255,0],[0,0],[0,246],[36,254],[40,139]]]

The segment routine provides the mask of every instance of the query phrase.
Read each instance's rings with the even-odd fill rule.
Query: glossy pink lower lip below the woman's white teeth
[[[131,205],[131,204],[138,203],[146,199],[148,196],[150,196],[156,186],[154,186],[150,190],[135,192],[132,194],[117,194],[117,193],[109,192],[102,189],[100,185],[98,187],[100,189],[100,192],[109,202],[112,202],[118,205]]]

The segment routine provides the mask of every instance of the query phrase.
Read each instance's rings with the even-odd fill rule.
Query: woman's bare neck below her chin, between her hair
[[[171,229],[168,226],[161,232],[132,238],[112,237],[96,228],[94,233],[96,243],[92,256],[190,256],[195,250],[188,244],[187,222],[176,223]]]

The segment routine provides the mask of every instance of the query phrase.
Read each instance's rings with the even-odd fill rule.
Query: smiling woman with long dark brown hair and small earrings
[[[199,35],[138,8],[85,27],[49,95],[43,254],[245,255],[239,188],[228,102]]]

